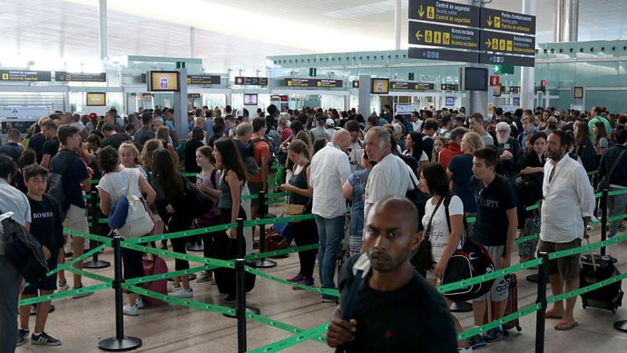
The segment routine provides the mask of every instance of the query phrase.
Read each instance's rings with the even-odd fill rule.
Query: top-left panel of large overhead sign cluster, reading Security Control
[[[409,19],[479,27],[479,8],[439,0],[411,0]]]

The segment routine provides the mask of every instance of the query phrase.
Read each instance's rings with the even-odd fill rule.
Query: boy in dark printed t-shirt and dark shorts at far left
[[[48,262],[48,269],[54,270],[57,260],[63,251],[63,224],[61,223],[61,208],[56,200],[44,194],[48,185],[48,170],[39,165],[28,165],[24,168],[24,184],[28,188],[28,203],[31,204],[31,234],[41,244],[41,250]],[[31,283],[24,288],[21,299],[25,300],[36,295],[51,295],[56,288],[56,274],[45,279]],[[35,329],[31,341],[46,346],[59,346],[61,341],[55,339],[43,331],[48,319],[50,301],[40,302],[37,305],[37,317]],[[31,306],[23,305],[19,308],[20,328],[18,345],[24,344],[28,339],[28,318]]]

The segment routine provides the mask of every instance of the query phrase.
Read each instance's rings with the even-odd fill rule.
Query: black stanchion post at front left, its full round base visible
[[[113,290],[115,290],[115,337],[98,342],[98,348],[108,352],[124,352],[142,347],[142,340],[138,337],[124,335],[124,317],[122,312],[122,249],[119,235],[113,237]]]

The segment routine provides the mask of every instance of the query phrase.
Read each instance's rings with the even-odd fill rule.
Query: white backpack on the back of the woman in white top
[[[139,171],[137,173],[139,173]],[[125,238],[146,235],[155,227],[155,223],[152,222],[152,215],[144,199],[130,193],[133,181],[135,180],[134,175],[133,173],[128,177],[126,195],[121,197],[118,203],[115,204],[115,208],[117,208],[120,202],[123,204],[128,203],[128,213],[126,214],[125,222],[122,227],[117,228],[118,234]],[[115,188],[111,190],[115,190]]]

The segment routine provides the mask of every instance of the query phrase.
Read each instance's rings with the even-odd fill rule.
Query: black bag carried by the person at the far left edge
[[[28,283],[36,283],[46,278],[48,264],[41,250],[41,244],[21,224],[13,218],[4,218],[1,232],[6,238],[6,257],[19,269]]]

